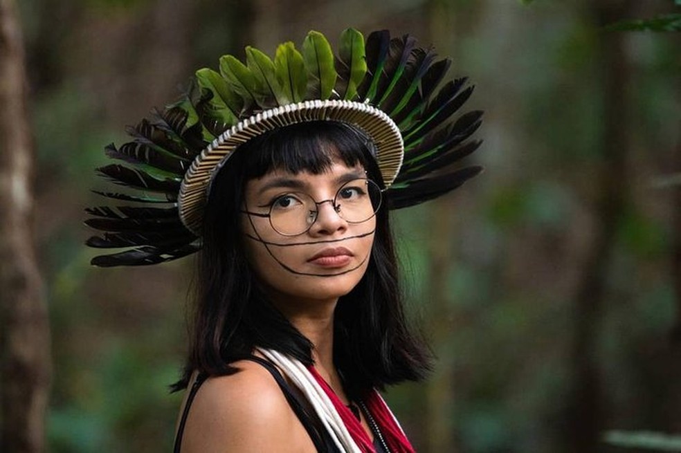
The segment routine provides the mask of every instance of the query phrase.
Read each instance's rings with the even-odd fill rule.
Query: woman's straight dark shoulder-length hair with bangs
[[[311,342],[269,302],[246,261],[239,222],[244,187],[273,169],[320,174],[334,159],[349,167],[363,165],[368,177],[383,186],[373,149],[354,127],[316,121],[265,133],[230,156],[208,196],[194,282],[192,342],[175,390],[187,385],[194,369],[209,375],[234,372],[230,362],[250,355],[255,346],[312,363]],[[430,353],[404,315],[386,204],[376,213],[365,275],[336,306],[334,361],[347,391],[419,380],[430,369]]]

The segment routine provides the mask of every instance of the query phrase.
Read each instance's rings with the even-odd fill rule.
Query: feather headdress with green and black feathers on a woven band
[[[482,112],[455,116],[473,92],[466,78],[444,84],[451,62],[436,61],[414,37],[349,28],[338,55],[311,31],[302,51],[280,44],[274,59],[246,47],[246,64],[221,57],[219,72],[199,69],[185,98],[127,129],[132,140],[109,145],[121,163],[98,172],[134,194],[98,192],[136,207],[92,207],[85,223],[102,231],[87,245],[125,248],[95,257],[96,266],[170,261],[201,247],[210,183],[239,145],[266,131],[311,120],[353,124],[374,142],[390,209],[459,187],[481,167],[458,167],[480,140],[467,140]],[[442,84],[442,86],[440,86]]]

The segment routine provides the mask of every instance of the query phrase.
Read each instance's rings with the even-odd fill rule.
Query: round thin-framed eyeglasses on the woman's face
[[[381,207],[381,188],[370,179],[358,178],[343,184],[333,200],[315,201],[305,192],[287,192],[269,204],[269,212],[245,214],[269,217],[272,228],[283,236],[298,236],[307,232],[318,216],[318,206],[332,203],[334,211],[348,223],[362,223],[376,215]]]

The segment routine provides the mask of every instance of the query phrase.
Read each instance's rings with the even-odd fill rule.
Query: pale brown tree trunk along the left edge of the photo
[[[0,0],[0,450],[44,451],[48,320],[35,259],[33,149],[14,0]]]

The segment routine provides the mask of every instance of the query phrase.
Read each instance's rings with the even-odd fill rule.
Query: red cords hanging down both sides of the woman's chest
[[[350,436],[352,436],[360,450],[362,450],[363,453],[375,453],[376,450],[374,450],[371,439],[359,420],[352,414],[352,411],[343,404],[341,398],[338,398],[336,392],[334,392],[331,386],[327,384],[322,376],[320,376],[315,367],[307,367],[307,369],[312,376],[314,376],[322,389],[324,389],[325,394],[327,394],[332,403],[334,403],[338,415],[341,416],[343,424],[345,424],[347,431],[350,433]],[[409,443],[404,432],[397,424],[397,420],[392,416],[392,412],[388,409],[388,405],[385,405],[383,398],[381,398],[375,389],[370,391],[366,396],[364,404],[376,421],[376,424],[379,425],[379,431],[391,453],[415,453],[414,447]]]

